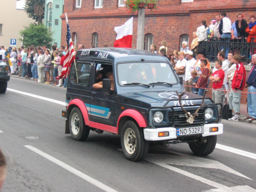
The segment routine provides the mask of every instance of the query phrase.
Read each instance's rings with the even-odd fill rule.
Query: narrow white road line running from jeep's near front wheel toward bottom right
[[[205,178],[200,177],[200,176],[197,176],[197,175],[195,175],[195,174],[191,174],[191,173],[189,173],[189,172],[186,172],[185,170],[176,168],[176,167],[174,167],[174,166],[172,166],[172,165],[168,165],[168,164],[166,164],[166,162],[164,162],[162,159],[160,159],[160,158],[155,158],[156,155],[157,155],[157,154],[153,154],[153,155],[147,154],[147,157],[145,158],[145,160],[146,160],[146,161],[150,161],[150,162],[152,162],[152,163],[154,163],[154,164],[157,164],[157,165],[159,165],[159,166],[162,166],[162,167],[164,167],[164,168],[173,170],[174,172],[177,172],[177,173],[179,173],[179,174],[182,174],[182,175],[184,175],[184,176],[186,176],[186,177],[190,177],[190,178],[192,178],[192,179],[196,179],[196,180],[198,180],[198,181],[201,181],[201,182],[203,182],[203,183],[205,183],[205,184],[207,184],[207,185],[211,185],[211,186],[216,187],[216,188],[219,188],[219,189],[225,189],[225,188],[227,188],[227,186],[222,185],[222,184],[220,184],[220,183],[211,181],[211,180],[209,180],[209,179],[205,179]],[[163,157],[163,156],[161,156],[161,157]],[[170,159],[170,157],[168,157],[168,159]]]

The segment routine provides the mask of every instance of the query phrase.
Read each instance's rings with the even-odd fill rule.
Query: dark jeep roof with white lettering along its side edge
[[[120,58],[122,60],[125,59],[124,57],[153,57],[155,59],[153,60],[159,60],[159,61],[166,61],[166,58],[156,54],[152,53],[150,51],[144,51],[144,50],[138,50],[138,49],[132,49],[132,48],[92,48],[92,49],[82,49],[79,50],[76,54],[76,59],[83,59],[88,57],[96,57],[101,59],[110,59],[110,60],[116,60],[117,58]],[[156,58],[157,57],[157,58]],[[118,60],[120,60],[118,59]],[[126,60],[126,59],[125,59]]]

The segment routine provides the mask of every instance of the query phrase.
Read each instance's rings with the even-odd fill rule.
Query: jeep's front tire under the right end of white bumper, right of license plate
[[[212,135],[212,136],[206,137],[206,143],[203,143],[201,141],[189,143],[189,147],[190,147],[190,150],[195,155],[206,156],[211,154],[214,151],[216,143],[217,143],[217,135]]]

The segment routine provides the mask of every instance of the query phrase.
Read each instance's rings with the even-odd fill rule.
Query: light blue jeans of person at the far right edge
[[[253,86],[248,88],[247,105],[249,116],[256,118],[256,88]]]

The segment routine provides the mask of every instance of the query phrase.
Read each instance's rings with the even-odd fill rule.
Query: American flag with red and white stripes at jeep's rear
[[[68,21],[68,15],[66,14],[66,22],[67,22],[67,52],[65,55],[65,60],[63,63],[63,68],[61,70],[61,75],[56,77],[56,79],[66,79],[69,75],[70,68],[72,62],[75,60],[75,54],[76,52],[74,51],[74,46],[70,34],[70,28],[69,28],[69,21]]]

